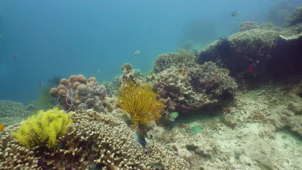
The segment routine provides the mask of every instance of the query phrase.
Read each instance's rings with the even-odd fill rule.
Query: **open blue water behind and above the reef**
[[[54,75],[109,81],[126,62],[147,72],[157,55],[188,40],[205,46],[245,20],[267,22],[271,2],[2,0],[0,99],[35,100],[39,82]],[[235,10],[241,14],[231,17]],[[132,56],[134,50],[141,54]]]

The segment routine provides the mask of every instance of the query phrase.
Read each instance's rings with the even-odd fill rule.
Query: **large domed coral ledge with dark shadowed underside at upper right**
[[[279,32],[276,31],[243,31],[227,39],[212,42],[199,52],[199,63],[216,62],[229,69],[231,75],[241,75],[245,79],[282,75],[291,70],[286,69],[288,63],[298,63],[294,59],[299,54],[298,46],[288,45],[279,40]]]

